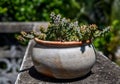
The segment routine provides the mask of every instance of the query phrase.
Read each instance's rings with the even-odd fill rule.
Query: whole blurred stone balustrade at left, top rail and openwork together
[[[46,22],[0,22],[0,84],[14,84],[25,47],[19,46],[15,34],[20,31],[39,30]],[[47,27],[47,26],[46,26]]]

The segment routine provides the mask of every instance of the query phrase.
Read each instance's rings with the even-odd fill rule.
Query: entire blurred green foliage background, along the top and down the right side
[[[111,26],[107,37],[94,45],[120,65],[120,53],[115,56],[120,47],[120,0],[0,0],[1,22],[48,21],[51,11],[82,24]]]

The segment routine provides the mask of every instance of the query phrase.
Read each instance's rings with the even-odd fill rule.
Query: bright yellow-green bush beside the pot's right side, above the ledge
[[[94,45],[105,55],[112,55],[112,60],[115,60],[114,54],[120,45],[120,21],[114,20],[111,25],[111,33],[105,38],[96,39]],[[104,46],[104,47],[101,47]]]

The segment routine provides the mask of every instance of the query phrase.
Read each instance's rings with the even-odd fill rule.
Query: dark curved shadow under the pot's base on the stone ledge
[[[83,80],[87,77],[89,77],[91,74],[93,74],[91,71],[85,75],[84,77],[80,77],[80,78],[74,78],[74,79],[56,79],[56,78],[51,78],[51,77],[48,77],[48,76],[45,76],[41,73],[38,73],[36,71],[36,69],[34,68],[34,66],[32,66],[30,69],[29,69],[29,75],[37,80],[41,80],[41,81],[44,81],[44,82],[53,82],[53,83],[67,83],[67,82],[74,82],[74,81],[80,81],[80,80]]]

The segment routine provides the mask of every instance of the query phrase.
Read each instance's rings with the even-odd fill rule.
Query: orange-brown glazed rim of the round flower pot
[[[46,45],[46,46],[64,46],[64,47],[70,47],[70,46],[82,46],[83,44],[90,44],[91,40],[86,40],[84,42],[82,41],[45,41],[45,40],[40,40],[39,38],[34,38],[34,40],[41,45]]]

